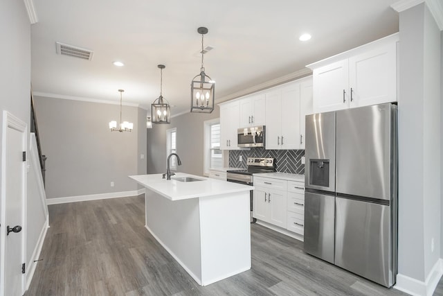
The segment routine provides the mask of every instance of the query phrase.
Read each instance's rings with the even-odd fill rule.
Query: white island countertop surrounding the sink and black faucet
[[[162,174],[132,175],[131,179],[139,184],[163,195],[169,200],[187,200],[189,198],[203,198],[212,195],[235,193],[253,190],[253,186],[226,182],[187,173],[176,173],[172,180],[162,178]],[[180,182],[173,180],[174,177],[194,177],[203,181]]]

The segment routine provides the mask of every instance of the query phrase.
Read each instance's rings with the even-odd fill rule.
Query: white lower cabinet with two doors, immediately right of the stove
[[[254,177],[253,217],[286,228],[287,181]]]

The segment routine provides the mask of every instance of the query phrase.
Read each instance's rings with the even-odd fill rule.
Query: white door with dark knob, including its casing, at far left
[[[1,195],[1,290],[0,295],[23,295],[24,193],[26,182],[26,123],[3,112],[2,195]],[[8,227],[10,231],[8,233]]]

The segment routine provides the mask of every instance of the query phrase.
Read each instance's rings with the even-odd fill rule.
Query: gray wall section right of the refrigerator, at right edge
[[[440,31],[424,3],[399,28],[399,274],[425,281],[441,248]]]

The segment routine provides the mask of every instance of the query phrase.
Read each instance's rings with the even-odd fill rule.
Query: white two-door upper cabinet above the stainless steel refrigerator
[[[310,64],[314,112],[397,101],[398,34]]]

